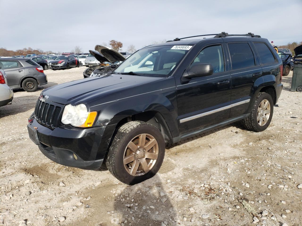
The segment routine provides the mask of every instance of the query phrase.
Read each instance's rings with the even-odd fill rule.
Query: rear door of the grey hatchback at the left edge
[[[7,83],[11,88],[18,87],[20,80],[24,77],[24,67],[19,61],[15,60],[0,60],[1,69],[7,75]]]

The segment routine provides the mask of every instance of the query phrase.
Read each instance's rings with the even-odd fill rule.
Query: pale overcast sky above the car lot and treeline
[[[18,2],[18,3],[17,3]],[[232,2],[232,3],[230,3]],[[275,45],[302,41],[302,1],[0,0],[0,48],[84,52],[111,39],[136,49],[163,39],[248,32]]]

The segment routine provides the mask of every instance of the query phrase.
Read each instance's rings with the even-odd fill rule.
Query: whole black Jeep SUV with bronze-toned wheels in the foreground
[[[268,40],[252,33],[177,38],[138,50],[109,74],[44,89],[28,133],[54,162],[106,162],[118,180],[136,184],[159,170],[165,143],[239,120],[265,130],[282,73]]]

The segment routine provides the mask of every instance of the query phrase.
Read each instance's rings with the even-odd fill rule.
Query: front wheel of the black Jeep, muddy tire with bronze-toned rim
[[[141,139],[143,134],[145,134],[145,139]],[[146,149],[139,148],[141,140],[145,140],[143,143]],[[132,145],[130,145],[131,141]],[[147,150],[151,141],[153,142],[151,146],[153,146]],[[129,146],[136,152],[133,153]],[[164,156],[165,141],[159,129],[143,121],[131,121],[117,130],[107,155],[106,166],[118,180],[124,184],[133,185],[153,177],[161,167]],[[130,162],[124,165],[126,157],[130,159]],[[137,165],[138,168],[133,168]],[[132,172],[131,169],[135,171]]]

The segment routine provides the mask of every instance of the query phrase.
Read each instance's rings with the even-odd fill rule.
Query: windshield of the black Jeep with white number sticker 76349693
[[[191,46],[155,46],[130,55],[114,72],[169,76]]]

